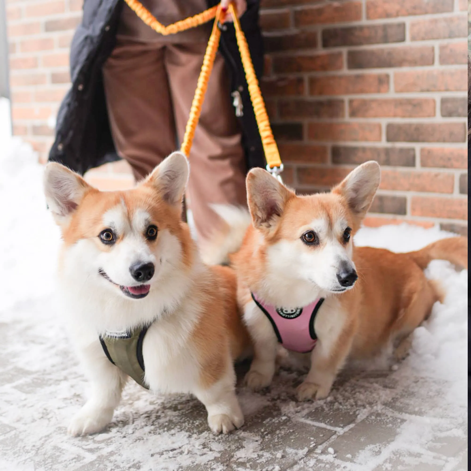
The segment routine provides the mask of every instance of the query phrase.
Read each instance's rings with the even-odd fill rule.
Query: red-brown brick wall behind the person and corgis
[[[7,0],[14,133],[42,161],[81,4]],[[382,184],[368,225],[467,233],[466,11],[464,0],[262,0],[262,89],[284,179],[324,190],[374,159]],[[125,162],[88,178],[131,184]]]

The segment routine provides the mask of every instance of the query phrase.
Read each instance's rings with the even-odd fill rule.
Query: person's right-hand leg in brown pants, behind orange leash
[[[175,121],[180,142],[195,95],[206,44],[169,45],[165,50]],[[200,121],[189,155],[189,206],[198,239],[207,240],[224,224],[210,204],[246,205],[245,156],[241,146],[224,59],[216,56]]]

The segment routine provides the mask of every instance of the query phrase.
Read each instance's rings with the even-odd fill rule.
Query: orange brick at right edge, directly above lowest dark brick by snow
[[[467,198],[413,196],[411,214],[429,218],[468,220],[468,200]]]

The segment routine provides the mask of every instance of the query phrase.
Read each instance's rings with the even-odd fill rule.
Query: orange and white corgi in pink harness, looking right
[[[298,399],[327,397],[347,358],[373,356],[391,345],[398,355],[405,349],[408,335],[442,299],[439,285],[423,274],[430,260],[467,268],[464,237],[409,253],[354,247],[380,183],[377,162],[360,165],[324,194],[296,195],[262,169],[252,169],[246,183],[252,225],[229,260],[254,343],[245,376],[254,390],[272,381],[281,343],[310,355]],[[215,210],[228,224],[237,212]],[[243,222],[240,214],[235,219]],[[240,228],[214,243],[234,247],[236,241],[227,242],[232,233]]]

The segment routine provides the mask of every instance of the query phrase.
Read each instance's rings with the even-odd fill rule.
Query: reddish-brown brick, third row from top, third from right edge
[[[341,52],[275,57],[273,66],[275,73],[340,70],[343,67],[343,58]]]

